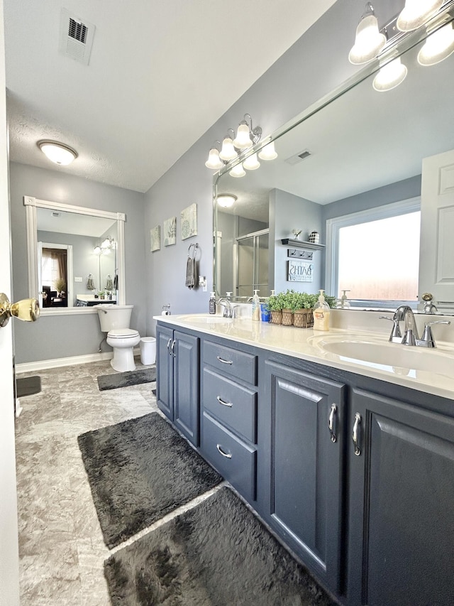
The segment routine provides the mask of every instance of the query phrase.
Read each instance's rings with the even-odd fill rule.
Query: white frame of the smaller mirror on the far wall
[[[118,305],[126,303],[126,281],[125,281],[125,221],[123,212],[110,212],[108,210],[96,210],[84,206],[73,206],[62,202],[50,202],[50,200],[39,200],[30,195],[23,196],[23,205],[26,207],[26,229],[27,229],[27,262],[28,262],[28,296],[38,298],[38,224],[36,220],[37,208],[48,208],[74,212],[77,215],[88,215],[89,217],[101,217],[116,221],[118,242]],[[41,309],[41,315],[72,315],[78,313],[97,313],[93,307],[69,307],[59,309]]]

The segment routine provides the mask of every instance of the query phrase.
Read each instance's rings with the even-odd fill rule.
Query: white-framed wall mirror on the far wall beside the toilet
[[[28,289],[42,313],[87,313],[100,303],[124,304],[125,215],[31,196],[23,203]]]

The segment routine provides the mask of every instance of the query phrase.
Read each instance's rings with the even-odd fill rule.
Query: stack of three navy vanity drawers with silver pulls
[[[201,454],[250,503],[257,476],[257,361],[247,346],[202,345]]]

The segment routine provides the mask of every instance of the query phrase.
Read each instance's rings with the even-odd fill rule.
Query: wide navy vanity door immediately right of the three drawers
[[[344,386],[265,363],[259,402],[258,509],[338,592]],[[328,427],[332,406],[333,432]]]

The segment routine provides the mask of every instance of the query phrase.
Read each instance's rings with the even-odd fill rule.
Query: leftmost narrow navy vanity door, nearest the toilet
[[[157,406],[173,421],[173,330],[158,326],[156,330],[156,400]]]

